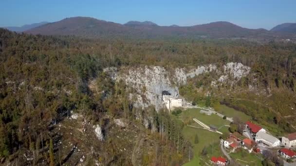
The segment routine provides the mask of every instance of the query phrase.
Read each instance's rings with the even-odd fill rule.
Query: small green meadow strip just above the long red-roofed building
[[[251,116],[246,115],[243,112],[237,111],[233,108],[227,107],[226,105],[217,105],[215,106],[215,111],[228,116],[228,117],[234,117],[234,116],[238,116],[240,117],[240,119],[245,122],[251,119]]]

